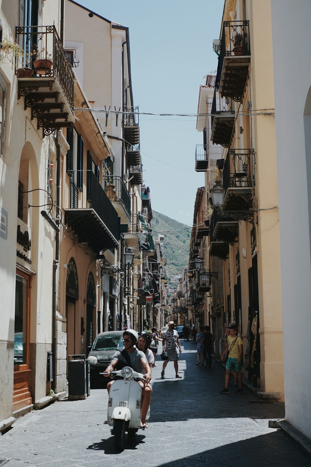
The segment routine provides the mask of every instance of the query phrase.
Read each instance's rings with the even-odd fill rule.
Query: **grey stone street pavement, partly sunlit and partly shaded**
[[[179,373],[173,363],[160,378],[153,368],[149,429],[116,453],[106,419],[107,391],[92,389],[83,401],[64,399],[21,418],[0,437],[6,467],[99,466],[311,466],[302,448],[282,430],[268,428],[282,418],[283,404],[263,403],[244,389],[221,395],[224,370],[196,366],[196,347],[181,340]],[[160,350],[160,348],[159,348]],[[1,465],[1,462],[0,462]]]

